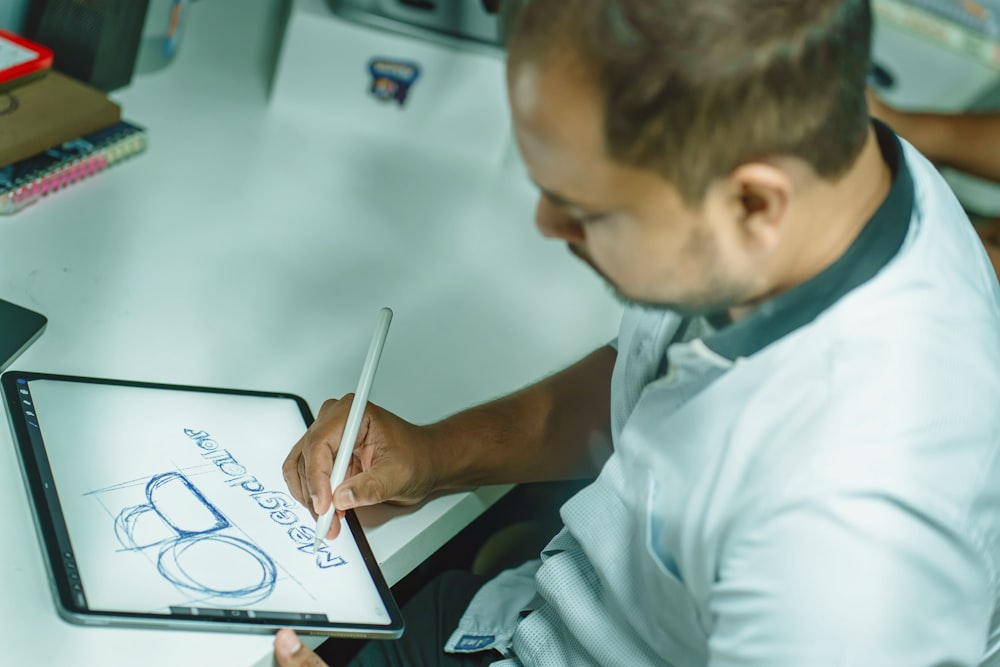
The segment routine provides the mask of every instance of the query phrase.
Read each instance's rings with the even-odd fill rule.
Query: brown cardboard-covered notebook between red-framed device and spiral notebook
[[[121,120],[121,107],[107,95],[56,71],[6,95],[0,99],[0,167]]]

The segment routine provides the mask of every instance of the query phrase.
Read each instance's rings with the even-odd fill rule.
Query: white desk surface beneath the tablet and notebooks
[[[296,98],[301,77],[329,69],[316,62],[310,74],[287,50],[303,46],[301,31],[336,21],[321,2],[296,5],[291,61],[270,101],[264,63],[280,6],[215,0],[190,10],[178,59],[113,95],[149,128],[148,152],[0,218],[0,297],[49,318],[14,368],[291,391],[316,412],[354,388],[376,312],[389,305],[372,400],[426,422],[614,335],[620,307],[589,269],[538,237],[534,193],[509,156],[463,156],[466,140],[436,152],[430,130],[414,141],[366,134]],[[482,65],[453,57],[459,69]],[[501,82],[483,85],[490,90],[469,99],[488,99]],[[373,105],[373,118],[387,113],[363,90],[343,94]],[[389,582],[502,492],[362,512]],[[61,621],[6,428],[0,502],[0,664],[270,664],[269,636]]]

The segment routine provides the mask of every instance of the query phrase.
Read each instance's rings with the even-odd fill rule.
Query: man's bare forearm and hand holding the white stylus
[[[592,478],[611,454],[616,357],[603,346],[529,387],[427,426],[368,403],[347,477],[335,490],[330,471],[354,396],[329,400],[285,459],[285,483],[313,518],[331,502],[339,518],[363,505],[412,505],[484,484]],[[326,537],[339,532],[334,521]]]

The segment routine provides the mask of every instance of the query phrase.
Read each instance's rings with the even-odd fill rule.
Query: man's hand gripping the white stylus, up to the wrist
[[[288,490],[318,517],[333,502],[337,518],[364,505],[393,502],[410,505],[434,490],[433,446],[426,429],[369,403],[344,482],[330,488],[330,471],[340,448],[353,394],[323,404],[319,416],[292,447],[282,473]],[[340,532],[340,521],[330,526],[327,538]]]

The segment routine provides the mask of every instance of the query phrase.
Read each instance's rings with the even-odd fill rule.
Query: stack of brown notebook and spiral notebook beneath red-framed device
[[[0,89],[0,214],[145,147],[146,131],[123,121],[121,107],[96,88],[51,69],[11,81]]]

